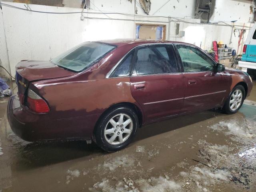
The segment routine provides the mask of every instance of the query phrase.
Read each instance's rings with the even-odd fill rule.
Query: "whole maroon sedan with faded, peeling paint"
[[[191,112],[242,106],[246,72],[225,69],[182,42],[85,42],[50,60],[16,66],[18,96],[8,103],[12,130],[27,141],[93,139],[102,149],[127,146],[138,127]]]

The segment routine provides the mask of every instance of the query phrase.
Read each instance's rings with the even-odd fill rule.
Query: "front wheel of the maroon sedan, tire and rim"
[[[242,93],[242,96],[240,96],[240,93]],[[238,110],[241,108],[242,104],[244,103],[244,99],[245,99],[244,87],[242,85],[237,85],[230,92],[222,110],[227,114],[234,114],[238,112]],[[236,106],[236,104],[238,105]]]

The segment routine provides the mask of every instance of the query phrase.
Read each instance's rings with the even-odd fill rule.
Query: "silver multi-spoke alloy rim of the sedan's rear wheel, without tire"
[[[104,136],[109,144],[117,145],[125,142],[132,134],[132,118],[120,113],[112,117],[105,126]]]

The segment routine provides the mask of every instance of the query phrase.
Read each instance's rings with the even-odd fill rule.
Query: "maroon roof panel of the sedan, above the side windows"
[[[113,39],[113,40],[100,40],[98,42],[114,44],[117,46],[123,46],[126,44],[134,44],[134,46],[142,45],[142,44],[151,44],[151,43],[179,43],[179,44],[187,44],[193,45],[185,42],[178,41],[166,41],[166,40],[152,40],[152,39]],[[193,45],[194,46],[194,45]]]

